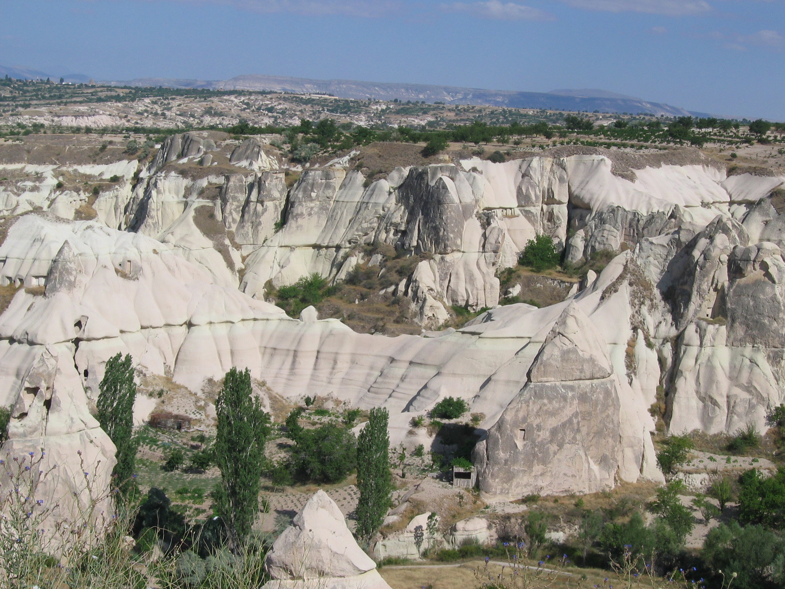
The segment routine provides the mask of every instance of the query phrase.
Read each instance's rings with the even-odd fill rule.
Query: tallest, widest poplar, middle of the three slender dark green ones
[[[270,430],[270,416],[254,397],[247,368],[226,373],[216,412],[215,463],[221,470],[216,513],[226,525],[230,549],[236,552],[259,510],[259,477]]]

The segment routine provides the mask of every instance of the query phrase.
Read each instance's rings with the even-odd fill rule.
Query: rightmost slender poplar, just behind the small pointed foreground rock
[[[390,504],[392,481],[389,469],[389,413],[385,408],[371,409],[368,423],[357,441],[357,503],[356,534],[370,541],[384,521]]]

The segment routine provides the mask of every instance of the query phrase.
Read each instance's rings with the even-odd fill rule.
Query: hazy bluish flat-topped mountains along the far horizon
[[[0,76],[16,79],[59,79],[60,76],[24,68],[0,66]],[[89,76],[64,75],[67,82],[87,82]],[[508,108],[546,108],[571,112],[627,112],[650,113],[666,116],[709,116],[705,112],[692,112],[661,102],[644,101],[607,90],[551,90],[550,92],[518,92],[516,90],[482,90],[458,86],[432,86],[429,84],[401,84],[390,82],[359,82],[356,80],[316,80],[287,78],[276,75],[238,75],[228,80],[195,80],[170,78],[137,78],[98,82],[109,86],[164,86],[166,88],[194,88],[210,90],[267,90],[290,93],[322,93],[338,98],[367,100],[425,101],[444,104],[477,104]]]

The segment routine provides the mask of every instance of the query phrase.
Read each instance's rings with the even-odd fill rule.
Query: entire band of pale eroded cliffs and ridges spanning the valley
[[[531,472],[552,465],[538,475],[547,492],[606,488],[613,473],[660,477],[648,413],[658,386],[677,433],[763,429],[783,402],[785,221],[771,204],[782,178],[727,177],[694,153],[596,152],[399,167],[373,182],[339,159],[287,188],[265,146],[197,138],[162,145],[134,185],[124,163],[93,220],[57,207],[54,166],[24,198],[5,193],[18,218],[0,246],[0,282],[27,288],[0,316],[0,403],[22,402],[35,367],[57,357],[75,366],[68,382],[82,393],[69,394],[84,412],[117,352],[196,394],[237,366],[284,397],[385,406],[393,443],[407,440],[413,415],[458,396],[485,415],[480,485],[506,495],[498,473],[516,452]],[[616,257],[564,302],[497,307],[498,272],[542,232],[574,262]],[[265,302],[268,284],[343,280],[373,243],[426,256],[393,286],[426,327],[448,305],[491,310],[458,331],[388,338]],[[565,322],[591,346],[564,339]],[[94,430],[82,423],[69,434]],[[547,451],[518,448],[520,429],[538,431]],[[31,435],[20,432],[13,425],[8,443]],[[576,456],[580,474],[564,478],[559,465]]]

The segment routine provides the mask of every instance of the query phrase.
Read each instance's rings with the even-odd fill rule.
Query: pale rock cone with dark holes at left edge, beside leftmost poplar
[[[7,346],[5,353],[9,354]],[[74,368],[74,346],[30,346],[13,353],[20,370],[8,375],[6,365],[2,372],[4,380],[20,379],[21,386],[13,399],[8,439],[0,448],[0,456],[8,465],[35,461],[35,472],[20,482],[24,492],[35,488],[36,503],[30,509],[43,510],[46,518],[42,525],[55,542],[50,546],[56,551],[55,530],[60,526],[93,521],[100,525],[101,518],[111,518],[110,491],[114,483],[110,475],[116,463],[115,444],[89,414],[82,381]],[[8,406],[7,397],[5,401]],[[38,482],[32,483],[33,479]],[[13,499],[6,502],[8,492],[14,492],[9,485],[0,488],[0,505],[5,507],[14,503]]]

